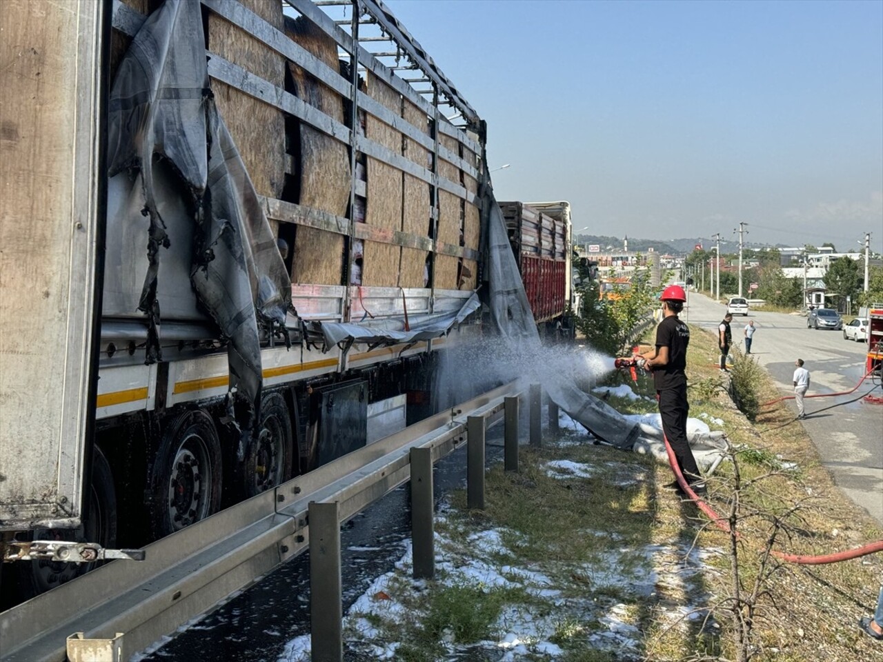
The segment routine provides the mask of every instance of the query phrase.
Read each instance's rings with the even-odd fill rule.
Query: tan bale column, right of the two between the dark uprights
[[[426,113],[413,103],[404,100],[402,117],[420,132],[428,135],[429,124]],[[430,152],[418,142],[405,137],[404,155],[412,162],[426,168]],[[404,218],[402,230],[419,237],[429,236],[429,222],[432,207],[429,203],[429,184],[412,175],[404,174]],[[402,249],[402,266],[399,284],[404,288],[423,288],[427,285],[426,251],[415,248]]]

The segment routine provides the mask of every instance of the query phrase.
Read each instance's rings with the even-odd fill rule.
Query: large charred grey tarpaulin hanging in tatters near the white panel
[[[200,3],[167,0],[141,26],[110,93],[109,177],[129,172],[140,182],[133,194],[149,217],[139,303],[151,329],[148,362],[160,358],[156,290],[168,224],[189,222],[192,289],[228,341],[230,394],[245,403],[239,422],[248,428],[260,402],[260,330],[284,328],[291,282],[215,107],[204,45]],[[179,185],[157,184],[169,178]]]

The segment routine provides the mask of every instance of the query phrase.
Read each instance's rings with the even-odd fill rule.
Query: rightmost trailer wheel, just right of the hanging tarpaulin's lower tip
[[[293,444],[291,415],[278,393],[260,400],[260,428],[242,468],[245,498],[273,489],[291,478]]]

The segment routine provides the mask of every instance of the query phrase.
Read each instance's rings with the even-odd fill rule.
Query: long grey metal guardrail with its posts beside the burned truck
[[[469,437],[467,500],[483,508],[485,429],[505,408],[506,468],[517,470],[517,398],[524,389],[513,382],[479,395],[147,545],[147,560],[109,563],[0,613],[0,660],[128,659],[308,547],[313,659],[341,659],[334,648],[340,645],[340,524],[412,472],[419,475],[411,481],[422,494],[413,511],[414,568],[431,576],[432,464]],[[539,386],[532,385],[529,400],[531,442],[539,445]]]

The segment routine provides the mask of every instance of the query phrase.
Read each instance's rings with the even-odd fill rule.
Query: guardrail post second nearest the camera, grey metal
[[[435,575],[433,449],[411,448],[411,549],[414,579]]]

